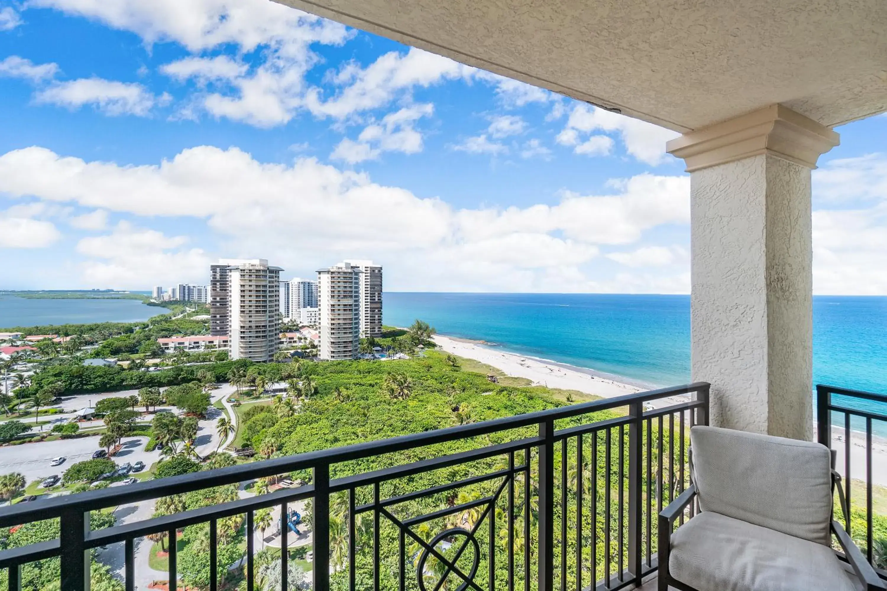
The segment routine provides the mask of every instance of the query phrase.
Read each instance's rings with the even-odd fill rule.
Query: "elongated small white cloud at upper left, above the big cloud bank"
[[[154,105],[163,104],[168,97],[154,97],[136,82],[114,82],[102,78],[81,78],[57,82],[35,95],[38,103],[78,109],[93,105],[106,115],[138,115],[145,117]]]

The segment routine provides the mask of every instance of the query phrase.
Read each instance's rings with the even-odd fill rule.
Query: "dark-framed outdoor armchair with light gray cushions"
[[[693,484],[659,514],[659,591],[887,588],[832,518],[835,484],[847,508],[828,447],[695,426],[690,449]],[[699,512],[672,533],[694,500]]]

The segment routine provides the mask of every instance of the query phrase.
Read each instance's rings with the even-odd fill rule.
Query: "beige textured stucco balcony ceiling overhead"
[[[884,0],[277,0],[677,131],[887,111]]]

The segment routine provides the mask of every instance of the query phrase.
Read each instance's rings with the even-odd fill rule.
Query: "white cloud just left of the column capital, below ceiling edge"
[[[679,135],[670,129],[660,128],[652,123],[625,117],[619,113],[612,113],[600,107],[576,105],[569,114],[566,127],[557,136],[557,141],[559,144],[576,146],[574,152],[577,153],[593,155],[608,153],[600,152],[600,140],[587,146],[580,141],[581,136],[595,130],[618,132],[625,144],[625,151],[635,159],[651,166],[662,164],[668,159],[668,155],[665,153],[665,143]],[[580,146],[586,147],[580,148]],[[583,152],[580,152],[580,149]]]

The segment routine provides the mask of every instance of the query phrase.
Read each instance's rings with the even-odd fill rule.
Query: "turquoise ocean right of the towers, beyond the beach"
[[[690,380],[687,295],[385,293],[386,324],[416,318],[443,335],[650,387]],[[813,298],[813,384],[887,394],[887,297]]]

